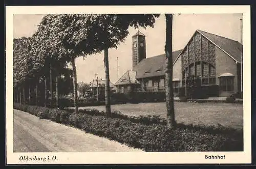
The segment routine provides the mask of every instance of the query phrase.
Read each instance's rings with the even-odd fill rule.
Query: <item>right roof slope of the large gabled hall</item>
[[[241,63],[241,52],[243,45],[238,41],[228,39],[219,35],[210,34],[201,30],[197,30],[201,35],[214,43],[217,47],[227,53],[233,60]]]

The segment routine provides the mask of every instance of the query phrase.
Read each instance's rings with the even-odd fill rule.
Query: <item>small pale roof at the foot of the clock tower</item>
[[[138,80],[136,80],[136,71],[127,70],[115,83],[115,85],[127,85],[127,84],[133,84],[133,83],[139,83]]]

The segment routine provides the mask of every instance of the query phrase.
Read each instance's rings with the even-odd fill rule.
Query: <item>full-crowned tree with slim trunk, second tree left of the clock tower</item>
[[[44,46],[48,46],[48,52],[52,53],[57,61],[71,62],[75,113],[78,112],[75,58],[81,55],[85,57],[97,50],[91,47],[94,46],[94,35],[88,35],[92,19],[94,18],[76,14],[47,15],[40,23],[40,29],[44,31],[41,36],[46,41]]]

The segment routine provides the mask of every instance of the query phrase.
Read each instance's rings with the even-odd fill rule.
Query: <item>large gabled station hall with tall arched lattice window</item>
[[[174,62],[174,78],[186,88],[187,77],[196,76],[209,96],[241,92],[242,44],[197,30]],[[186,95],[186,90],[183,90]]]

